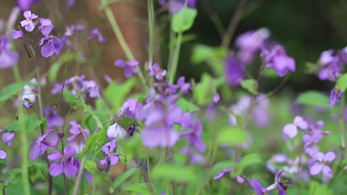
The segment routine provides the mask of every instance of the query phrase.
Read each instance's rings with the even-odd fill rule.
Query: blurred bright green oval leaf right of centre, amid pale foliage
[[[217,136],[219,143],[230,144],[236,146],[242,142],[247,142],[247,133],[244,130],[240,130],[237,127],[224,127],[220,130]]]

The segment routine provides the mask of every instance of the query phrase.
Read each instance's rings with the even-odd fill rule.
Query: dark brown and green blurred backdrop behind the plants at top
[[[93,73],[104,84],[106,83],[102,80],[102,76],[105,73],[109,74],[113,79],[122,80],[122,70],[114,67],[113,62],[118,58],[124,58],[124,54],[118,45],[105,14],[99,9],[100,2],[97,0],[77,0],[76,5],[66,11],[62,11],[59,7],[60,2],[63,1],[41,0],[40,3],[34,4],[31,10],[41,17],[52,19],[57,28],[57,33],[60,35],[68,24],[76,24],[78,22],[88,24],[88,30],[98,27],[109,42],[104,45],[96,42],[82,43],[87,57],[92,58],[93,55],[99,52],[96,64],[92,65],[94,70],[97,71],[93,71]],[[210,71],[206,64],[192,65],[190,61],[192,48],[195,44],[220,46],[221,37],[209,16],[211,13],[217,14],[224,28],[227,28],[238,2],[231,0],[198,0],[196,21],[193,28],[186,32],[195,34],[196,37],[182,46],[179,75],[185,75],[188,79],[193,78],[199,81],[202,72]],[[6,20],[12,7],[15,5],[15,0],[1,0],[0,18]],[[146,1],[118,1],[113,3],[111,8],[135,57],[139,61],[145,62],[147,60],[146,48],[148,43]],[[162,11],[157,2],[155,8],[158,16],[156,18],[158,26],[164,25],[164,30],[160,32],[166,32],[160,33],[160,36],[156,36],[156,38],[160,38],[161,42],[165,43],[165,41],[168,41],[169,36],[167,30],[169,26],[165,26],[165,22],[167,24],[167,21],[165,21],[167,13]],[[19,17],[18,22],[20,20],[22,20],[22,16]],[[247,1],[245,11],[237,25],[229,48],[233,49],[233,40],[240,33],[250,29],[266,27],[271,31],[271,40],[283,44],[287,49],[287,53],[297,60],[297,71],[292,74],[287,86],[296,92],[322,88],[328,90],[331,88],[331,84],[320,82],[317,76],[304,72],[305,63],[307,61],[316,62],[320,53],[324,50],[345,47],[347,42],[346,24],[347,1],[343,0]],[[20,43],[17,44],[17,48],[21,51],[21,56],[24,56],[21,59],[23,71],[32,70]],[[160,50],[157,51],[156,59],[165,67],[167,48],[165,50],[165,48],[160,47]],[[42,61],[43,63],[48,63],[54,59],[56,58],[42,59]],[[255,64],[254,66],[257,65]],[[3,70],[0,72],[2,73],[1,76],[5,76],[3,72]],[[273,80],[273,83],[281,81],[281,79]],[[271,86],[268,88],[271,89]],[[266,91],[267,87],[263,90]]]

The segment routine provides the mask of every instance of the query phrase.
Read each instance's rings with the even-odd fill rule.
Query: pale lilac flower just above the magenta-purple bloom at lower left
[[[67,138],[66,141],[71,142],[70,145],[76,149],[77,153],[79,153],[86,145],[86,140],[90,131],[89,129],[83,129],[81,125],[76,123],[76,121],[71,121],[70,125],[71,127],[68,131],[73,135]]]

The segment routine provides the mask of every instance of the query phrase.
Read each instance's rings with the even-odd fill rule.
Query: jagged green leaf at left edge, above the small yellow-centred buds
[[[40,126],[42,121],[40,121],[37,118],[34,118],[28,114],[19,115],[19,120],[23,120],[23,126],[25,127],[26,132],[32,132],[36,129],[36,127]],[[4,128],[4,131],[21,131],[22,130],[22,124],[19,120],[16,120],[12,124],[6,126]]]

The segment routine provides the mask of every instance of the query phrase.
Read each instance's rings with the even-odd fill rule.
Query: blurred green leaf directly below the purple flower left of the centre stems
[[[106,88],[104,92],[105,98],[112,105],[114,111],[117,111],[122,106],[125,102],[125,96],[130,93],[135,84],[136,80],[131,77],[122,84],[112,83]]]

